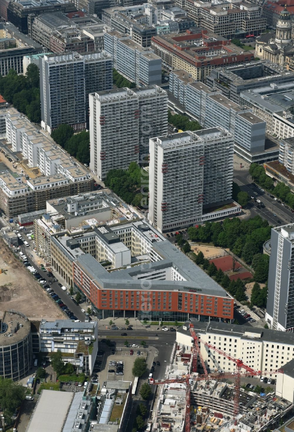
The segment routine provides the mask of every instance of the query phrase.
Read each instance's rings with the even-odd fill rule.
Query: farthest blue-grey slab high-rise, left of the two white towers
[[[84,129],[89,93],[112,89],[112,57],[104,51],[51,54],[39,64],[42,128],[49,133],[60,124]]]

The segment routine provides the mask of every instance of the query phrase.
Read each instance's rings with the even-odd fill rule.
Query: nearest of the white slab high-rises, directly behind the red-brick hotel
[[[231,201],[232,180],[227,131],[213,127],[150,139],[149,222],[166,232],[221,217],[216,207],[240,211]]]

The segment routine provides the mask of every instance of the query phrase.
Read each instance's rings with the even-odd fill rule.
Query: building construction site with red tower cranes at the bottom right
[[[254,371],[227,353],[221,354],[236,362],[237,372],[208,373],[193,326],[190,331],[194,339],[192,351],[175,343],[165,378],[150,379],[150,384],[157,385],[158,389],[147,430],[261,432],[275,429],[281,419],[285,421],[293,415],[293,403],[276,396],[274,389],[257,394],[240,388],[241,377],[257,377],[261,371]],[[214,346],[209,348],[217,350]],[[199,357],[204,374],[196,371]]]

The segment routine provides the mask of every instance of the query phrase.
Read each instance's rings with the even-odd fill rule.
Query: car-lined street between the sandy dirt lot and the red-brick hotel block
[[[22,237],[27,240],[27,238],[25,237],[25,233],[23,231],[21,233],[22,233]],[[28,242],[29,242],[29,240],[28,240]],[[41,267],[38,267],[38,265],[35,264],[35,262],[32,260],[31,247],[25,246],[23,244],[23,242],[20,240],[19,240],[19,247],[21,248],[21,251],[28,258],[29,263],[38,271],[38,273],[40,273],[40,275],[42,276],[42,279],[46,280],[46,282],[49,285],[49,279],[51,279],[51,278],[47,276],[47,271],[44,272],[41,269]],[[62,281],[61,281],[61,283],[62,283]],[[54,282],[54,283],[50,284],[50,288],[53,289],[54,292],[56,292],[56,294],[61,298],[61,300],[64,302],[64,304],[67,305],[67,307],[76,315],[77,319],[79,319],[80,321],[85,321],[85,314],[81,311],[80,306],[77,306],[72,301],[72,299],[70,299],[70,296],[67,295],[67,292],[63,291],[61,289],[61,287],[58,286],[58,282]],[[43,288],[40,286],[40,289],[43,289]],[[67,319],[65,314],[64,314],[64,319]]]

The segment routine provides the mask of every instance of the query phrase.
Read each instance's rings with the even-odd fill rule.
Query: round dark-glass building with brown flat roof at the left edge
[[[19,381],[32,368],[31,323],[21,312],[5,311],[0,324],[0,376]]]

